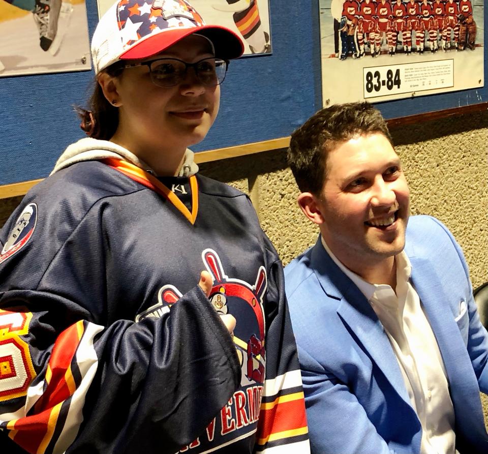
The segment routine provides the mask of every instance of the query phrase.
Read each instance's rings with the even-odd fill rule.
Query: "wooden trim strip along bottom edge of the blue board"
[[[439,110],[436,112],[391,118],[387,120],[387,123],[390,129],[394,129],[401,126],[413,125],[415,123],[427,122],[429,120],[448,118],[454,115],[481,112],[483,110],[488,110],[488,102],[464,107],[454,107],[452,109]],[[203,162],[236,158],[238,156],[253,155],[255,153],[262,153],[279,148],[286,148],[289,144],[290,137],[288,136],[278,139],[264,140],[262,142],[246,143],[243,145],[230,146],[226,148],[217,148],[214,150],[208,150],[207,152],[195,153],[195,162],[197,164],[200,164]],[[29,189],[31,189],[34,185],[37,185],[42,180],[43,179],[41,178],[31,181],[23,181],[22,183],[14,183],[11,185],[0,186],[0,199],[24,195]]]

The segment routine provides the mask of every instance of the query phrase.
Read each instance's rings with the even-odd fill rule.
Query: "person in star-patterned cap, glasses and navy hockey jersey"
[[[242,49],[182,0],[100,20],[90,137],[0,235],[0,427],[19,452],[308,451],[281,262],[187,149]]]

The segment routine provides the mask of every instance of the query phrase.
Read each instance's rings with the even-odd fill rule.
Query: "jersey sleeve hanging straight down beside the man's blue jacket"
[[[271,266],[266,295],[266,377],[255,451],[310,452],[295,337],[285,297],[283,266],[266,238]]]

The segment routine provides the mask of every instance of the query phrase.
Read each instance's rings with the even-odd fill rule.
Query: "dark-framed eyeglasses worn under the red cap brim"
[[[185,79],[188,68],[193,68],[198,80],[206,86],[220,85],[227,73],[229,62],[220,58],[203,58],[196,63],[187,63],[178,58],[158,58],[147,62],[128,63],[123,68],[149,67],[151,82],[160,87],[174,87]]]

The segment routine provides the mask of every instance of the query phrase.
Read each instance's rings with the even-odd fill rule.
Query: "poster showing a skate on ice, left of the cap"
[[[0,0],[0,77],[89,69],[84,0]]]

